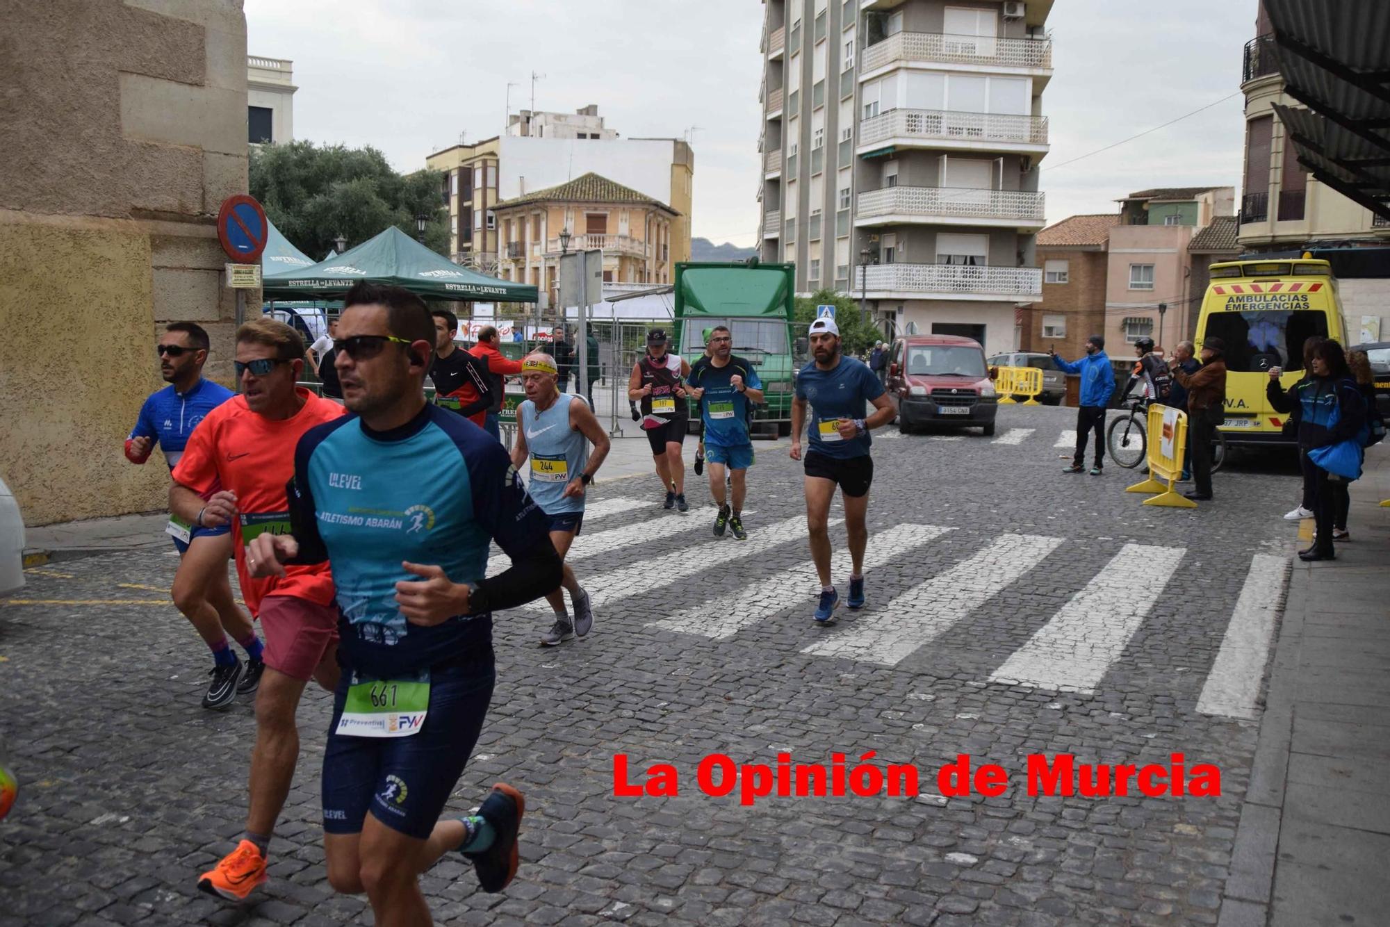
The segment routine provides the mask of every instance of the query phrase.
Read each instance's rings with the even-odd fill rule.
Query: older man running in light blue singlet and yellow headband
[[[585,488],[607,457],[609,436],[582,399],[560,392],[559,367],[549,354],[523,359],[521,384],[525,399],[517,406],[512,466],[521,470],[527,456],[531,457],[531,499],[545,513],[550,543],[563,560],[584,525]],[[555,610],[555,625],[541,638],[546,646],[573,641],[575,635],[582,638],[594,627],[589,593],[580,588],[567,563],[560,586],[545,596]],[[564,610],[564,589],[570,591],[574,621]]]

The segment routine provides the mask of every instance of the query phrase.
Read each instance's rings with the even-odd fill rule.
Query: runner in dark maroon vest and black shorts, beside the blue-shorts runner
[[[642,403],[642,428],[652,445],[656,475],[666,486],[663,509],[674,506],[678,511],[689,511],[685,502],[685,461],[681,460],[681,443],[685,441],[689,410],[684,402],[685,386],[681,377],[691,372],[691,366],[666,350],[666,332],[656,328],[646,335],[646,353],[632,364],[632,375],[627,381],[627,397]]]

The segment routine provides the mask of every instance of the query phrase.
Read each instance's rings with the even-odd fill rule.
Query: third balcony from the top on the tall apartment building
[[[859,195],[855,225],[1042,228],[1042,193],[960,186],[890,186]]]

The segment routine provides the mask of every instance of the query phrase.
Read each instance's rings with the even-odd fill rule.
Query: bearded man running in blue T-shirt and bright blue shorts
[[[744,531],[744,499],[748,496],[748,468],[753,466],[753,442],[748,434],[748,416],[763,400],[763,384],[753,364],[733,353],[734,336],[724,325],[709,335],[709,353],[695,361],[687,381],[691,396],[701,406],[705,427],[705,460],[709,464],[709,492],[719,504],[714,536],[724,536],[724,527],[738,541]],[[731,477],[733,510],[724,493],[724,468]]]

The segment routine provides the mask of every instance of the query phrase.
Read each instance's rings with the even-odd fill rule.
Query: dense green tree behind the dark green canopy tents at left
[[[374,147],[349,149],[291,142],[252,149],[250,192],[270,221],[314,260],[332,250],[339,235],[348,247],[395,225],[416,238],[416,215],[425,214],[425,246],[449,256],[449,214],[443,175],[423,170],[400,175]]]

